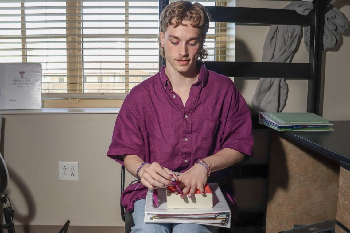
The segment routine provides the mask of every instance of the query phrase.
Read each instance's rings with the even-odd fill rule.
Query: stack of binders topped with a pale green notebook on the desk
[[[333,124],[311,112],[260,112],[260,124],[278,131],[331,131]]]

